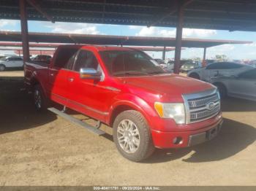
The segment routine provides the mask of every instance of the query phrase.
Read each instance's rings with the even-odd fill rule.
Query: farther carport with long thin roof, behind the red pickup
[[[20,47],[22,36],[20,32],[0,31],[0,47]],[[162,51],[162,59],[165,60],[165,52],[175,50],[176,38],[165,37],[143,37],[143,36],[111,36],[90,34],[56,34],[56,33],[29,33],[29,47],[57,47],[59,44],[45,43],[67,43],[67,44],[104,44],[124,46],[146,46],[133,47],[143,51]],[[249,41],[218,40],[218,39],[191,39],[183,38],[181,47],[203,48],[203,60],[206,59],[206,48],[222,44],[250,44]],[[157,47],[160,46],[160,47]]]

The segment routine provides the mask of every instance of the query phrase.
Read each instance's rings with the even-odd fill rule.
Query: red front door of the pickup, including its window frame
[[[108,115],[110,101],[116,92],[108,88],[108,81],[102,72],[100,80],[81,79],[80,69],[95,69],[102,72],[94,52],[80,50],[72,71],[68,75],[68,105],[78,112],[104,121]]]

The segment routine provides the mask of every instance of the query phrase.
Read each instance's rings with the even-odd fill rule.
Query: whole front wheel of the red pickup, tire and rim
[[[139,162],[154,152],[151,132],[140,112],[121,112],[113,123],[113,139],[118,152],[128,160]]]

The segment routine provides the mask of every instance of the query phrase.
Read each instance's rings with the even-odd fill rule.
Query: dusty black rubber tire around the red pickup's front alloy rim
[[[133,153],[126,152],[121,147],[121,144],[119,144],[118,142],[118,135],[120,134],[118,133],[118,125],[120,125],[121,122],[124,122],[125,120],[132,121],[138,129],[139,133],[139,146],[137,147],[137,150]],[[137,112],[135,110],[127,110],[118,114],[115,121],[113,122],[113,140],[115,141],[118,152],[120,152],[121,155],[126,157],[128,160],[132,160],[135,162],[145,160],[147,157],[153,154],[155,149],[153,141],[151,139],[151,131],[148,127],[146,119],[143,117],[142,114],[140,114],[140,112]]]

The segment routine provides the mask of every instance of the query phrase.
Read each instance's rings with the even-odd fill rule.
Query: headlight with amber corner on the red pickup
[[[172,118],[177,124],[185,123],[185,109],[184,104],[164,104],[160,102],[154,103],[154,108],[162,118]]]

